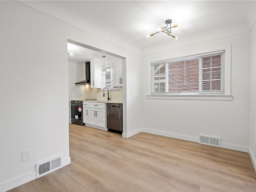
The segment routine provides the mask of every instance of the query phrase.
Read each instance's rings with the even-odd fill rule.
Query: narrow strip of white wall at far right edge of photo
[[[250,32],[250,156],[256,170],[256,24]]]

